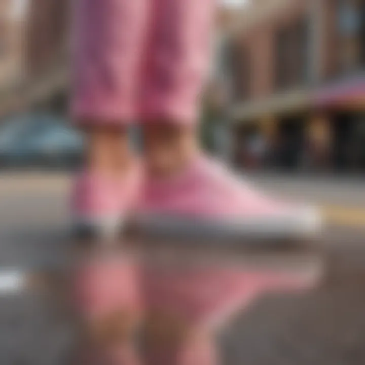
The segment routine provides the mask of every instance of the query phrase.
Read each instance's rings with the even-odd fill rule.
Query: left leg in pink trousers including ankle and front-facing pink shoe
[[[71,114],[85,136],[86,166],[72,210],[86,226],[113,230],[131,196],[127,127],[135,118],[147,4],[79,0],[74,7]]]

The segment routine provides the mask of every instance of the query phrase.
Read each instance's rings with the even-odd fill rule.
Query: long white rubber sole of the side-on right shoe
[[[323,226],[315,208],[298,209],[290,214],[243,218],[236,221],[201,220],[170,214],[140,214],[134,226],[143,235],[208,239],[300,239],[317,235]]]

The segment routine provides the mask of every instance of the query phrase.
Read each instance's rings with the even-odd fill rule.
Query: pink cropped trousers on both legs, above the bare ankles
[[[79,0],[72,113],[90,123],[196,120],[215,0]],[[89,122],[88,122],[89,121]]]

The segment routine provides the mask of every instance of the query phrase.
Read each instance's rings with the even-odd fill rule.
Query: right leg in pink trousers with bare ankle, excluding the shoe
[[[148,167],[168,174],[197,152],[216,0],[155,0],[141,120]]]

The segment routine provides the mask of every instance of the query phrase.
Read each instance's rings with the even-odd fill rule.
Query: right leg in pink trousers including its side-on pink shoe
[[[154,5],[140,111],[148,172],[140,225],[285,238],[317,233],[315,209],[267,198],[198,147],[215,0],[155,0]]]

